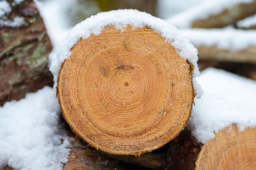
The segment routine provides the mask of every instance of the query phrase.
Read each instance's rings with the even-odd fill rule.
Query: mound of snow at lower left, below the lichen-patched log
[[[70,143],[59,130],[59,111],[50,87],[0,107],[0,169],[61,169]]]

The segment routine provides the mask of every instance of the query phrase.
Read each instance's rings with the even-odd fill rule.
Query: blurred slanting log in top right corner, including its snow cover
[[[256,13],[256,0],[237,2],[230,1],[227,5],[226,1],[205,1],[167,18],[167,21],[179,28],[221,28]]]

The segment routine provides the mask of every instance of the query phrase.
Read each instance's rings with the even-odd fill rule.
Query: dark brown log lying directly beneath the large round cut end
[[[164,169],[168,164],[166,151],[161,153],[145,153],[140,157],[134,155],[112,155],[92,148],[79,136],[71,131],[67,134],[72,138],[72,148],[67,164],[63,170],[67,169],[129,169],[134,167],[147,167],[149,169]],[[125,163],[124,163],[125,162]],[[2,170],[2,169],[1,169]]]

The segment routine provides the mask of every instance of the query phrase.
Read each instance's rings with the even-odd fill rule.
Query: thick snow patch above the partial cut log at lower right
[[[189,129],[201,143],[214,132],[237,124],[240,131],[256,125],[256,81],[220,69],[207,68],[196,78],[204,90],[195,99]]]

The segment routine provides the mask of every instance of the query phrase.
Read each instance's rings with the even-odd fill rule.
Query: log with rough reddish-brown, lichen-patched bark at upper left
[[[12,10],[0,18],[0,106],[52,85],[47,68],[52,45],[35,3],[6,2]],[[17,16],[20,25],[13,24]]]

